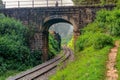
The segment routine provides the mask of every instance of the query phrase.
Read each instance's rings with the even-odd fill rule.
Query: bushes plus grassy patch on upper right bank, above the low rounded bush
[[[97,12],[96,19],[82,30],[86,32],[101,32],[111,36],[120,35],[120,10],[114,9],[112,11],[100,10]]]

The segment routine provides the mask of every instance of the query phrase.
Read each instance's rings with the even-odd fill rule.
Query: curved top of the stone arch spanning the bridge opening
[[[62,16],[57,16],[57,15],[50,16],[44,20],[44,23],[42,25],[42,31],[48,31],[51,25],[59,23],[59,22],[71,24],[74,30],[76,30],[77,24],[75,23],[75,21],[76,20],[74,20],[74,18],[70,16],[63,16],[63,15]]]

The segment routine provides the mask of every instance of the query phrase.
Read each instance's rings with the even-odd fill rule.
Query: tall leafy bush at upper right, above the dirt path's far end
[[[101,10],[98,12],[96,22],[100,23],[98,26],[105,29],[105,33],[112,36],[120,35],[120,10],[114,9],[112,11]]]

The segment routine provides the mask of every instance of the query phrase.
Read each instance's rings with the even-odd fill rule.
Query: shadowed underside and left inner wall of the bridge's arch
[[[44,57],[44,59],[47,59],[47,58],[45,58],[46,57],[46,54],[48,53],[47,51],[48,51],[48,48],[49,48],[49,46],[48,46],[48,34],[49,34],[49,28],[50,28],[50,26],[52,26],[53,24],[56,24],[56,23],[59,23],[59,22],[63,22],[63,23],[68,23],[68,24],[71,24],[71,25],[73,25],[73,29],[75,29],[75,22],[74,22],[74,20],[73,19],[69,19],[69,20],[66,20],[66,19],[63,19],[63,18],[52,18],[52,19],[48,19],[48,20],[46,20],[45,22],[44,22],[44,24],[42,25],[42,33],[43,33],[43,35],[44,35],[44,38],[43,38],[43,41],[42,41],[42,43],[43,43],[43,49],[45,49],[45,50],[43,50],[43,52],[44,52],[44,54],[43,54],[43,57]],[[74,33],[73,33],[74,34]]]

